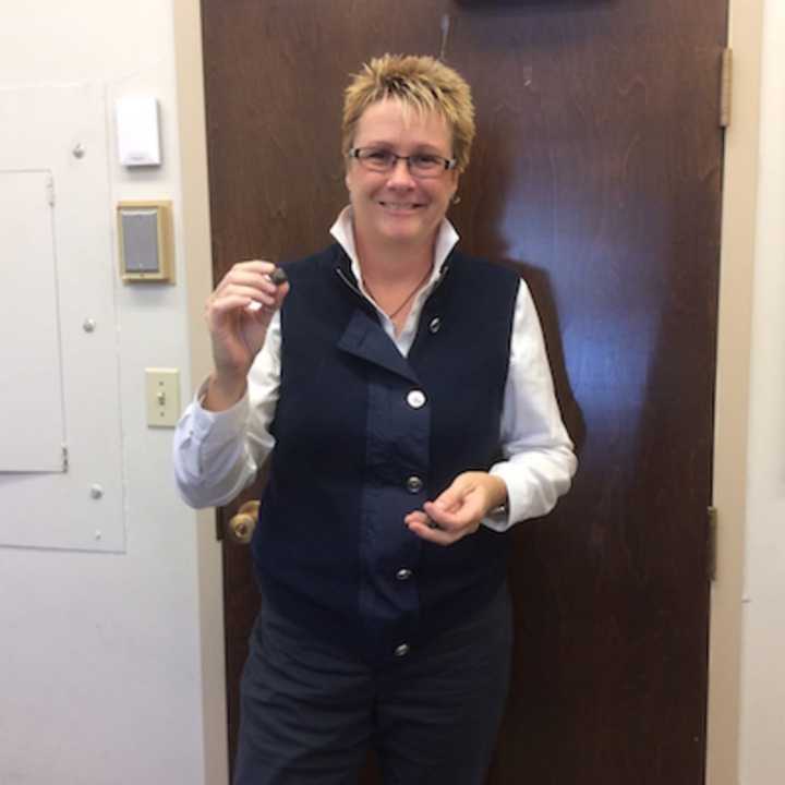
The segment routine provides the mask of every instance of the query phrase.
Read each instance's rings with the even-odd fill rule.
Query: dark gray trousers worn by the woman
[[[234,785],[482,785],[509,686],[507,587],[422,650],[373,668],[266,606],[241,683]]]

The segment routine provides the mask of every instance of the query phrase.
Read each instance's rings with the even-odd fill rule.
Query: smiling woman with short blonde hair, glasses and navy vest
[[[234,265],[206,306],[215,370],[178,426],[194,506],[271,452],[252,551],[264,613],[239,785],[483,782],[509,679],[507,535],[567,491],[572,445],[526,285],[445,218],[474,135],[427,57],[347,88],[336,243]]]

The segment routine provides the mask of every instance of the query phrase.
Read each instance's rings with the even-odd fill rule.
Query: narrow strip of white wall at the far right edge
[[[785,3],[764,3],[740,782],[785,782]]]

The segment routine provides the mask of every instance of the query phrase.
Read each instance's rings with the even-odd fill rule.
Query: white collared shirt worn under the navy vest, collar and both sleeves
[[[354,247],[351,208],[345,208],[330,230],[351,259],[360,290],[374,305],[387,335],[403,357],[416,335],[420,314],[439,277],[458,233],[444,219],[434,249],[431,278],[414,298],[401,331],[373,301],[362,282]],[[174,432],[174,471],[182,497],[193,507],[230,502],[255,479],[275,446],[269,433],[280,386],[281,323],[276,313],[262,351],[249,373],[244,397],[226,411],[204,409],[206,382],[189,404]],[[577,461],[554,396],[540,321],[527,285],[516,299],[499,440],[504,460],[490,472],[507,485],[507,509],[483,520],[504,531],[512,523],[548,512],[566,493]],[[438,492],[444,488],[438,488]],[[435,490],[436,492],[436,490]]]

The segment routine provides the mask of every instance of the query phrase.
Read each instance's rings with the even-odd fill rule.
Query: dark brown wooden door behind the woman
[[[203,5],[216,278],[329,242],[362,61],[442,55],[472,84],[452,218],[467,251],[530,282],[580,457],[556,512],[515,530],[488,782],[703,782],[726,0]],[[258,599],[247,548],[225,564],[233,749]]]

